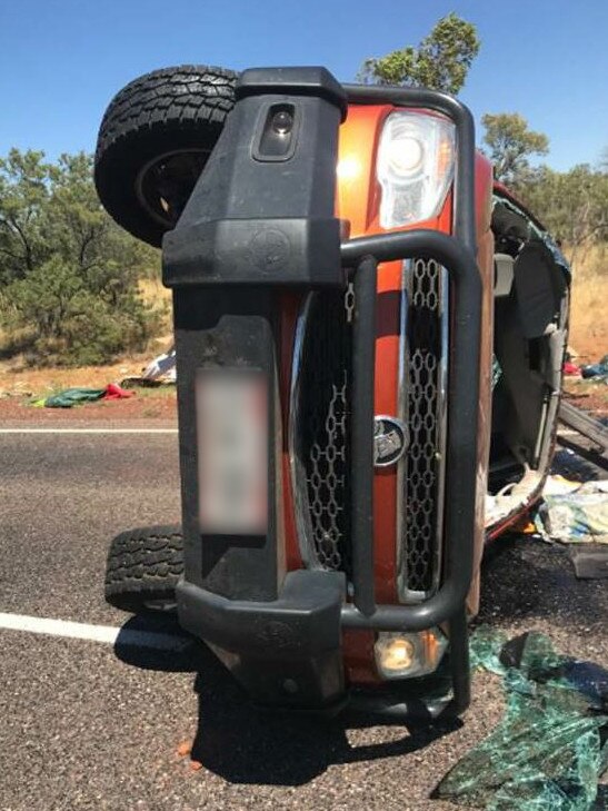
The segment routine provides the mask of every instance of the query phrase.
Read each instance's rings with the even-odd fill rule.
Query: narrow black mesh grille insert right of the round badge
[[[441,273],[437,263],[416,259],[406,276],[410,306],[403,398],[410,442],[402,462],[400,580],[412,592],[431,591],[439,565]]]

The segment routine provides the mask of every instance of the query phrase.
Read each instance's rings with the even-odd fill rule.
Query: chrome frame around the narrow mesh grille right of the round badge
[[[410,347],[408,345],[408,315],[411,300],[412,268],[416,259],[406,259],[401,270],[401,296],[399,317],[399,367],[398,367],[398,416],[408,427],[410,426],[409,403],[407,396],[408,368],[410,363]],[[433,550],[432,585],[428,591],[413,591],[407,587],[406,571],[406,511],[408,508],[408,494],[406,482],[407,455],[403,455],[397,467],[397,521],[396,521],[396,560],[397,560],[397,591],[402,603],[421,603],[432,596],[439,589],[441,580],[441,564],[443,551],[443,508],[445,508],[445,471],[447,445],[447,405],[448,405],[448,352],[449,352],[449,284],[446,268],[441,268],[439,278],[439,323],[440,323],[440,359],[436,374],[437,380],[437,448],[436,457],[442,461],[438,465],[436,493],[436,532]]]

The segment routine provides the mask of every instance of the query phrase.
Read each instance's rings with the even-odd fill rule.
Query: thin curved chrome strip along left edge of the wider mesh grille
[[[315,542],[312,523],[310,520],[310,504],[308,502],[307,475],[303,462],[299,454],[298,425],[300,412],[300,375],[302,368],[302,352],[308,326],[308,317],[312,305],[312,297],[317,295],[309,293],[298,313],[296,334],[293,336],[293,357],[291,362],[291,386],[289,392],[289,468],[291,472],[291,493],[293,496],[293,512],[296,516],[296,532],[300,554],[307,568],[320,568],[317,555],[315,554]]]

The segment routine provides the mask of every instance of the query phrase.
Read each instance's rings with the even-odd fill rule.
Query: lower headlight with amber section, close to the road
[[[412,679],[437,670],[448,641],[438,627],[419,633],[380,632],[376,664],[385,679]]]

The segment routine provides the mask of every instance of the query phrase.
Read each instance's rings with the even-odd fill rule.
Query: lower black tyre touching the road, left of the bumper
[[[112,538],[106,566],[106,601],[139,614],[171,611],[183,573],[183,538],[179,525],[146,526]]]

